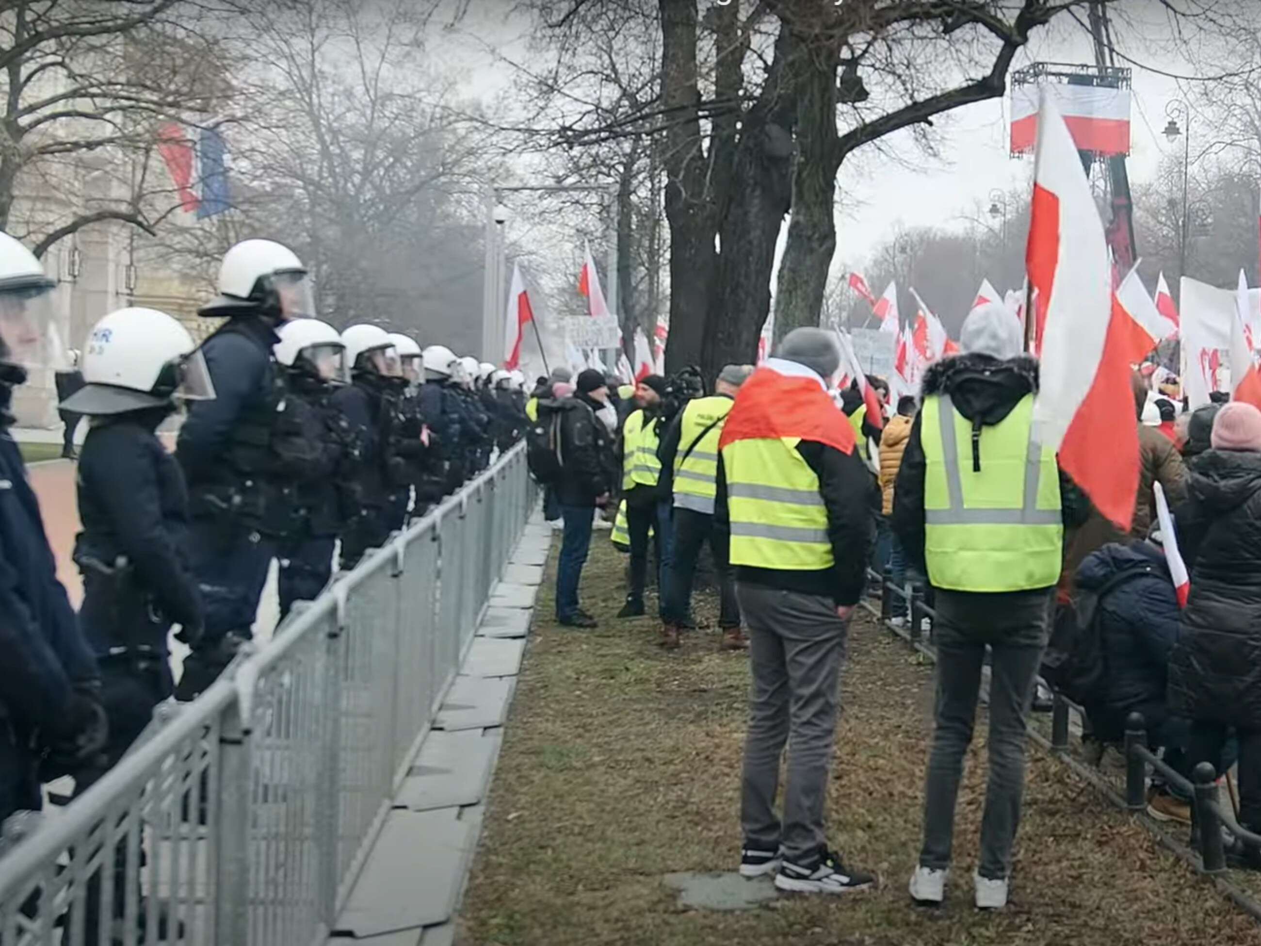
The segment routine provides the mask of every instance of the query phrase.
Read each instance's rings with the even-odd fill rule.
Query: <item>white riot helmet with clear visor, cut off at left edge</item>
[[[20,385],[34,367],[64,367],[53,322],[57,280],[25,246],[0,233],[0,382]]]

